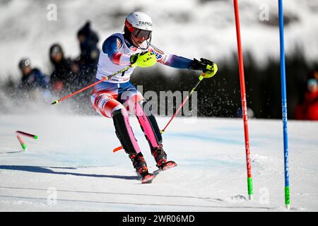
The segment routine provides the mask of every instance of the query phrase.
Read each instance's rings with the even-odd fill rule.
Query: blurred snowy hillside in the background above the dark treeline
[[[283,2],[283,7],[287,56],[299,54],[302,49],[306,61],[316,61],[318,1],[288,0]],[[56,13],[52,11],[55,8]],[[17,65],[21,57],[30,57],[33,66],[49,73],[49,47],[54,42],[64,47],[66,56],[77,57],[76,32],[86,20],[98,32],[101,47],[106,37],[122,32],[124,19],[131,11],[143,11],[151,16],[152,43],[165,52],[217,62],[236,56],[232,0],[2,0],[0,81],[9,75],[14,79],[20,77]],[[257,66],[265,66],[269,57],[279,59],[277,18],[277,1],[240,1],[243,51],[251,52],[259,62]],[[167,67],[160,69],[169,71],[167,75],[173,72]]]

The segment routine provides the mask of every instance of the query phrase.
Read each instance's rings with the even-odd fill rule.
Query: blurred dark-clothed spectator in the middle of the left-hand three
[[[64,57],[64,51],[59,44],[52,44],[49,48],[49,59],[54,66],[51,74],[51,87],[55,92],[68,91],[75,79],[78,66],[70,58]]]

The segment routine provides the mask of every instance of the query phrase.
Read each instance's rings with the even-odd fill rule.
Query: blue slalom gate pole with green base
[[[285,75],[285,46],[284,46],[284,21],[283,0],[278,0],[279,40],[281,46],[281,103],[283,113],[283,140],[284,140],[284,171],[285,171],[285,205],[290,209],[289,169],[288,169],[288,130],[287,130],[287,97]]]

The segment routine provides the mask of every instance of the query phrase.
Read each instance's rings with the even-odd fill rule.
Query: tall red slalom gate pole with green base
[[[244,121],[244,135],[245,135],[245,150],[246,150],[246,162],[247,162],[247,189],[249,194],[249,200],[253,199],[253,180],[252,180],[252,161],[251,153],[249,150],[249,128],[247,124],[247,101],[245,92],[245,76],[244,76],[244,63],[242,54],[242,44],[241,44],[241,33],[240,33],[240,16],[239,7],[237,0],[233,0],[234,13],[235,13],[235,26],[236,26],[236,36],[237,36],[237,54],[240,69],[240,88],[241,88],[241,99],[242,99],[242,113]]]

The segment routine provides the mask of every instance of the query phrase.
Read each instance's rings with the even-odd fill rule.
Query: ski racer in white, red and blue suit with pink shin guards
[[[107,37],[102,44],[98,61],[96,81],[124,69],[126,66],[153,66],[156,61],[177,69],[202,70],[204,78],[211,78],[218,70],[215,63],[207,59],[200,61],[167,54],[151,44],[153,23],[149,16],[141,12],[129,13],[124,23],[124,34],[116,33]],[[155,177],[148,172],[143,154],[129,124],[129,112],[135,112],[141,129],[151,148],[151,154],[159,169],[168,169],[177,164],[167,161],[163,150],[163,138],[155,117],[150,111],[145,112],[146,100],[134,85],[129,82],[134,67],[107,81],[98,83],[93,88],[91,101],[99,114],[112,118],[117,138],[122,148],[129,155],[142,183],[151,182]]]

